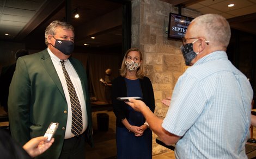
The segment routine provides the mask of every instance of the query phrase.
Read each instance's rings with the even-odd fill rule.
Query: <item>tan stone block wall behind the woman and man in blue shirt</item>
[[[161,100],[172,96],[173,88],[187,68],[180,52],[180,40],[168,40],[169,13],[178,14],[178,8],[159,0],[132,1],[132,47],[139,47],[143,63],[155,94],[155,115],[164,118],[168,107]],[[182,9],[182,15],[197,17],[198,12]],[[170,151],[155,142],[153,155]]]

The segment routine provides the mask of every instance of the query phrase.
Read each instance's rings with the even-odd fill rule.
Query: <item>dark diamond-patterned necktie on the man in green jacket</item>
[[[72,125],[71,125],[71,132],[74,135],[78,136],[83,130],[83,121],[82,121],[82,111],[79,99],[76,94],[76,90],[72,81],[70,80],[69,74],[65,68],[65,61],[60,61],[62,63],[62,71],[65,75],[66,85],[68,86],[69,90],[69,97],[71,103],[71,110],[72,110]]]

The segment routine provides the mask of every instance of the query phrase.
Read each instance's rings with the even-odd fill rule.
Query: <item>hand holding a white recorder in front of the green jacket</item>
[[[54,142],[54,138],[52,138],[50,142],[46,142],[46,139],[47,137],[44,136],[32,138],[25,145],[23,145],[22,148],[26,150],[28,155],[31,157],[41,155],[48,148],[50,148]]]

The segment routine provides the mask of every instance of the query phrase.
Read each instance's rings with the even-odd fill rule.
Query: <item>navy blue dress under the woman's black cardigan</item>
[[[125,78],[127,86],[127,97],[142,97],[139,79],[129,80]],[[145,123],[142,113],[136,112],[127,105],[128,116],[126,119],[131,125],[141,126]],[[125,127],[116,129],[117,137],[117,157],[124,158],[152,158],[152,131],[146,129],[143,135],[136,137],[133,132],[129,132]]]

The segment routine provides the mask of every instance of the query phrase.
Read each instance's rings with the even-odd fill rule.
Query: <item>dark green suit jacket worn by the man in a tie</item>
[[[69,60],[81,80],[88,115],[88,128],[85,133],[87,142],[93,147],[87,75],[80,61],[74,58]],[[58,122],[59,128],[54,135],[54,143],[38,158],[59,157],[68,119],[68,113],[64,111],[68,111],[68,104],[47,49],[17,60],[10,85],[8,109],[11,135],[21,145],[33,137],[44,136],[48,125]]]

